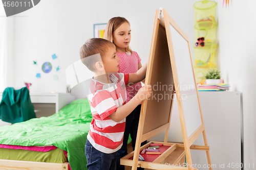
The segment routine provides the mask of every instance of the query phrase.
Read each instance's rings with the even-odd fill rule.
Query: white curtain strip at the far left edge
[[[0,5],[0,92],[6,88],[7,72],[6,72],[6,28],[7,17],[5,14],[4,6]]]

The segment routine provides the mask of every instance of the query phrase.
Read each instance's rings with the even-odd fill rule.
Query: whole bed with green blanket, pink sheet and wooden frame
[[[84,145],[92,114],[78,99],[49,117],[0,128],[0,169],[87,169]]]

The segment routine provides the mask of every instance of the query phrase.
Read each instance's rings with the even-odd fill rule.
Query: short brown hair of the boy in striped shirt
[[[80,48],[80,59],[91,71],[95,71],[95,63],[102,61],[109,48],[116,48],[115,44],[103,38],[91,38]]]

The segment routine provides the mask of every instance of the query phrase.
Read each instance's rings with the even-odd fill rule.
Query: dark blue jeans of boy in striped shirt
[[[86,158],[88,170],[116,170],[117,152],[111,154],[100,152],[89,140],[86,141]]]

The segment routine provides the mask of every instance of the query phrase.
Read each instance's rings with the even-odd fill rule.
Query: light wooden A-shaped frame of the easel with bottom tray
[[[138,127],[138,133],[137,133],[137,139],[136,139],[136,144],[135,144],[135,151],[124,156],[123,158],[120,159],[120,163],[122,165],[128,165],[132,166],[132,170],[136,170],[137,167],[143,167],[143,168],[150,168],[150,169],[196,169],[193,168],[193,163],[191,160],[191,153],[190,149],[195,149],[195,150],[202,150],[206,151],[206,156],[207,156],[207,161],[208,164],[211,165],[211,160],[210,160],[210,154],[209,154],[209,146],[206,138],[206,132],[205,132],[205,126],[204,126],[204,121],[203,121],[203,115],[202,115],[202,110],[200,106],[200,100],[199,100],[199,95],[198,95],[198,90],[197,90],[197,85],[196,85],[196,80],[195,80],[195,72],[193,68],[193,61],[191,58],[191,52],[190,52],[190,47],[189,47],[189,54],[190,54],[190,62],[193,68],[193,75],[194,75],[194,80],[195,80],[195,87],[197,91],[197,98],[198,98],[198,103],[199,103],[199,109],[200,109],[200,114],[201,114],[201,119],[202,119],[202,125],[190,136],[187,136],[187,130],[186,130],[186,124],[185,124],[185,118],[184,118],[184,112],[183,112],[183,106],[182,106],[182,100],[181,100],[181,92],[179,87],[179,81],[178,81],[178,75],[177,75],[177,68],[176,68],[176,63],[175,63],[175,55],[174,55],[174,50],[173,50],[173,41],[172,41],[172,34],[170,32],[170,27],[169,25],[172,25],[174,29],[178,31],[178,33],[187,41],[188,47],[189,47],[189,39],[188,36],[180,29],[180,27],[175,23],[175,21],[168,15],[167,11],[165,9],[156,10],[155,14],[155,21],[154,21],[154,28],[153,28],[153,36],[152,36],[152,42],[151,42],[151,50],[150,50],[150,56],[148,59],[148,67],[147,67],[147,72],[146,72],[146,79],[145,79],[145,86],[148,84],[151,84],[151,79],[152,79],[152,70],[154,67],[154,59],[156,57],[156,45],[157,45],[157,38],[159,34],[159,29],[164,28],[166,32],[166,38],[167,38],[167,43],[168,43],[168,51],[169,51],[169,57],[170,57],[170,66],[172,67],[172,76],[174,80],[174,86],[176,90],[176,96],[177,96],[177,102],[178,102],[178,109],[179,109],[179,116],[180,116],[180,122],[181,122],[181,129],[182,129],[182,136],[183,136],[183,142],[184,143],[169,143],[167,142],[168,139],[168,131],[169,131],[169,125],[170,125],[170,118],[171,118],[171,113],[172,113],[172,108],[173,108],[173,100],[170,100],[170,111],[169,111],[169,119],[168,123],[164,123],[163,125],[159,125],[159,127],[152,129],[146,133],[143,132],[143,128],[145,126],[145,117],[146,117],[146,108],[148,104],[148,100],[142,102],[142,107],[141,107],[141,112],[140,112],[140,120],[139,120],[139,127]],[[154,92],[154,90],[153,90]],[[173,90],[173,93],[175,91]],[[163,152],[156,160],[153,162],[145,162],[145,161],[138,161],[139,159],[139,153],[143,149],[147,148],[150,143],[148,142],[147,144],[143,145],[140,147],[140,143],[144,140],[147,140],[162,131],[165,130],[165,136],[164,136],[164,142],[162,142],[164,145],[170,145],[171,147],[167,149],[165,152]],[[205,145],[193,145],[193,142],[199,137],[200,134],[203,134],[203,139],[204,139],[204,144]],[[161,142],[153,142],[153,143],[161,143]],[[148,166],[149,163],[152,163],[155,165],[154,167],[160,167],[160,165],[164,165],[164,159],[171,154],[176,148],[184,148],[184,153],[180,155],[178,159],[181,159],[184,155],[186,155],[186,161],[187,161],[187,167],[164,167],[162,166],[161,168],[152,168]],[[133,160],[129,159],[133,156]],[[177,161],[178,161],[177,159]],[[175,162],[177,162],[175,161]],[[209,167],[211,170],[212,168]]]

